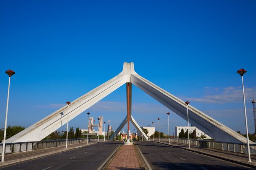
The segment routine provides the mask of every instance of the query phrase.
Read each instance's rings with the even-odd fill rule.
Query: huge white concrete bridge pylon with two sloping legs
[[[181,99],[171,95],[162,88],[156,86],[152,82],[138,75],[134,70],[133,63],[124,63],[123,71],[105,82],[104,84],[94,88],[92,91],[86,93],[85,95],[79,97],[78,99],[71,102],[69,105],[69,120],[73,119],[90,106],[96,104],[101,99],[115,91],[117,88],[125,83],[132,83],[142,91],[156,99],[158,102],[172,110],[174,113],[186,120],[186,104]],[[135,127],[139,127],[133,117],[130,115],[130,121]],[[127,117],[120,124],[125,125]],[[209,117],[205,113],[197,110],[196,108],[189,105],[189,122],[200,130],[204,131],[207,135],[211,136],[217,141],[227,141],[227,142],[243,142],[246,143],[246,138],[239,135],[234,130],[231,130],[227,126],[221,124],[215,119]],[[36,122],[35,124],[29,126],[22,132],[14,135],[13,137],[6,140],[7,143],[11,142],[23,142],[23,141],[39,141],[49,135],[54,130],[60,128],[67,122],[67,106],[60,108],[51,115],[45,117],[44,119]],[[118,129],[119,129],[118,128]],[[117,129],[117,132],[119,132]],[[139,130],[140,128],[137,128]],[[121,129],[120,129],[121,130]],[[140,131],[140,130],[139,130]],[[144,134],[142,132],[142,134]],[[146,135],[145,135],[146,136]]]

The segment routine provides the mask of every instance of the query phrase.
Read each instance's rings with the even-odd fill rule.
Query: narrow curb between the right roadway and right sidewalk
[[[166,144],[164,142],[158,142],[158,141],[154,141],[154,142],[157,142],[157,143],[160,143],[160,144],[165,144],[165,145],[168,145],[168,146],[173,146],[175,148],[180,148],[180,149],[184,149],[184,150],[188,150],[188,151],[191,151],[191,152],[196,152],[196,153],[199,153],[199,154],[202,154],[202,155],[207,155],[209,157],[215,157],[215,158],[218,158],[218,159],[222,159],[222,160],[225,160],[225,161],[229,161],[229,162],[233,162],[233,163],[237,163],[237,164],[240,164],[240,165],[244,165],[244,166],[249,166],[251,168],[256,168],[256,164],[254,162],[252,163],[249,163],[249,162],[240,162],[240,161],[236,161],[234,159],[228,159],[226,157],[222,157],[222,156],[218,156],[218,155],[213,155],[213,154],[210,154],[210,153],[206,153],[206,152],[201,152],[201,151],[198,151],[198,150],[193,150],[193,149],[188,149],[188,148],[182,148],[180,146],[174,146],[174,145],[171,145],[171,144]]]

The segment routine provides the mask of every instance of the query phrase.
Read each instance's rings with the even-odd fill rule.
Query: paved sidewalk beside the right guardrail
[[[158,141],[155,141],[155,142],[158,142]],[[158,143],[169,145],[168,142],[158,142]],[[200,153],[203,155],[215,157],[215,158],[222,159],[225,161],[230,161],[230,162],[238,163],[240,165],[256,168],[256,156],[255,155],[251,155],[252,162],[247,162],[248,161],[247,154],[227,152],[227,151],[215,150],[215,149],[210,149],[210,148],[200,148],[197,146],[190,146],[190,148],[188,148],[187,145],[175,144],[175,143],[170,143],[170,146],[182,148],[185,150],[190,150],[192,152],[197,152],[197,153]]]

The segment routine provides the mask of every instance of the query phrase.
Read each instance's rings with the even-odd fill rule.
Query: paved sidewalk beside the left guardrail
[[[66,148],[66,146],[58,146],[58,147],[52,147],[52,148],[31,150],[31,151],[27,151],[27,152],[6,154],[6,155],[4,155],[4,162],[0,162],[0,167],[11,165],[11,164],[18,163],[21,161],[27,161],[30,159],[45,157],[48,155],[56,154],[58,152],[64,152],[67,150],[81,148],[83,146],[88,146],[88,145],[92,145],[92,144],[97,144],[97,142],[89,142],[89,144],[87,144],[87,143],[70,144],[67,146],[67,148]]]

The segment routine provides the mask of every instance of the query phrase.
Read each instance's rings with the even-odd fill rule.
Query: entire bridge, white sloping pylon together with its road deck
[[[129,163],[129,161],[134,162],[135,164],[138,162],[138,167],[135,167],[134,169],[251,169],[245,166],[251,166],[256,168],[254,162],[246,163],[247,157],[246,155],[244,155],[247,152],[247,148],[245,146],[245,137],[239,135],[234,130],[231,130],[227,126],[221,124],[217,120],[209,117],[207,114],[194,108],[191,105],[188,106],[189,123],[195,125],[216,141],[221,141],[221,147],[220,144],[217,142],[217,148],[213,147],[211,148],[212,150],[209,151],[209,147],[203,148],[203,146],[210,146],[210,142],[198,142],[197,146],[196,142],[193,143],[193,141],[191,140],[191,148],[189,148],[188,150],[186,146],[187,141],[177,142],[175,141],[175,139],[173,139],[171,144],[166,143],[164,139],[161,139],[161,141],[159,139],[159,142],[135,141],[135,145],[132,144],[129,146],[122,146],[121,141],[109,141],[109,139],[106,139],[106,141],[102,141],[101,139],[100,142],[93,141],[92,139],[90,139],[90,141],[86,141],[85,139],[77,139],[79,141],[77,143],[69,140],[69,148],[63,148],[63,145],[65,145],[65,141],[62,141],[62,143],[64,142],[63,145],[60,144],[60,141],[46,141],[46,143],[44,144],[42,141],[40,141],[53,131],[63,126],[62,122],[67,122],[67,116],[69,116],[69,120],[73,119],[74,117],[81,114],[83,111],[87,110],[89,107],[96,104],[101,99],[103,99],[124,84],[126,84],[127,114],[124,117],[122,123],[117,128],[116,132],[119,132],[122,128],[124,128],[126,123],[128,124],[129,131],[129,123],[131,122],[135,126],[137,131],[144,135],[144,137],[148,140],[146,134],[141,130],[139,124],[137,124],[136,120],[132,117],[132,84],[137,86],[142,91],[144,91],[145,93],[156,99],[158,102],[160,102],[161,104],[163,104],[174,113],[186,120],[187,105],[184,101],[175,97],[171,93],[168,93],[167,91],[148,81],[144,77],[141,77],[138,73],[135,72],[134,64],[132,62],[125,62],[123,65],[123,70],[117,76],[101,84],[97,88],[94,88],[92,91],[77,98],[76,100],[70,102],[68,106],[64,106],[56,110],[54,113],[50,114],[44,119],[36,122],[22,132],[7,139],[7,145],[5,146],[8,146],[6,149],[7,152],[14,153],[16,150],[17,153],[7,155],[7,161],[2,162],[1,166],[5,167],[9,164],[28,160],[31,155],[35,155],[32,156],[31,159],[47,155],[52,156],[47,156],[36,160],[33,159],[32,161],[24,162],[22,164],[18,164],[17,166],[8,166],[7,168],[3,169],[16,169],[19,166],[23,167],[23,169],[29,167],[30,169],[41,170],[98,170],[104,169],[104,167],[105,169],[108,169],[109,167],[116,167],[114,161],[115,158],[119,158],[119,161],[116,162],[117,164],[124,162]],[[112,137],[110,139],[112,139]],[[251,143],[253,142],[251,141]],[[48,147],[43,148],[44,145]],[[212,146],[215,145],[216,144],[212,144]],[[41,147],[41,150],[38,147]],[[239,147],[240,153],[237,153],[237,148]],[[252,151],[256,150],[255,147],[256,146],[252,145]],[[199,150],[198,148],[200,148],[201,150]],[[227,148],[227,150],[224,148]],[[232,150],[232,148],[233,151],[230,155],[229,152]],[[218,152],[212,153],[213,149],[217,149]],[[29,150],[31,152],[22,152]],[[56,152],[53,152],[53,150],[56,150]],[[42,153],[40,152],[45,152],[45,155],[43,154],[42,156]],[[120,155],[120,153],[122,152],[124,152],[124,155]],[[132,157],[130,156],[131,153],[135,155],[134,157],[136,157],[136,159],[132,159]],[[118,156],[118,154],[120,156]],[[215,158],[209,158],[205,155]],[[124,157],[126,159],[123,159]],[[231,157],[233,157],[232,160]],[[243,159],[241,157],[243,157]],[[239,158],[240,160],[238,161]],[[120,162],[121,159],[123,160],[122,162]],[[253,157],[252,160],[255,161],[256,157]],[[230,161],[240,163],[241,165],[232,164],[230,163]],[[74,166],[74,163],[78,164]],[[132,166],[130,169],[132,169]]]

